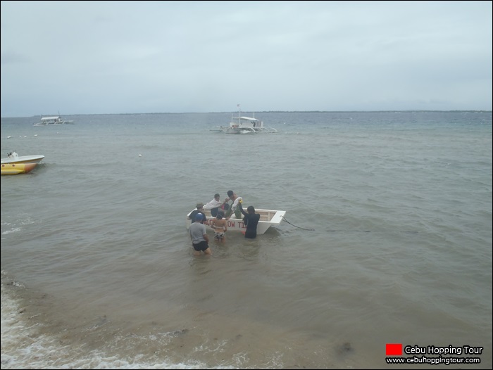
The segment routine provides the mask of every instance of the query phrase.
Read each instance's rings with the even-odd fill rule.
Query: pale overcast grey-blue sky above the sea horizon
[[[1,117],[492,110],[491,1],[1,1]]]

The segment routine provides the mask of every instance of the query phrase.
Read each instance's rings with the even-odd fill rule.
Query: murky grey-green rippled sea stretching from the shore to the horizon
[[[45,155],[1,177],[2,369],[492,368],[491,112],[230,117],[1,118],[2,158]],[[230,189],[285,221],[194,257]]]

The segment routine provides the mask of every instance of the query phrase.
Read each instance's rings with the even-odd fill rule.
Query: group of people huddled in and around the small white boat
[[[227,220],[235,214],[237,219],[241,218],[246,225],[244,231],[245,238],[256,238],[257,225],[260,215],[255,213],[255,208],[250,205],[245,210],[242,208],[242,197],[236,195],[232,190],[227,191],[227,198],[221,202],[219,193],[214,194],[213,200],[206,205],[203,203],[197,203],[196,209],[190,212],[188,216],[192,220],[190,224],[189,234],[192,240],[192,246],[194,248],[194,255],[200,255],[204,252],[206,255],[211,255],[212,251],[208,245],[209,238],[206,232],[206,214],[204,210],[210,210],[211,216],[215,217],[209,222],[209,226],[214,230],[214,240],[225,242],[225,233],[227,231]],[[230,205],[228,202],[232,202]]]

